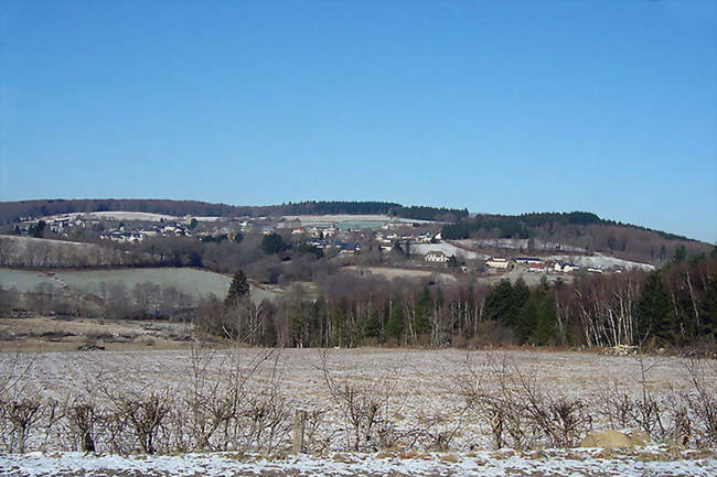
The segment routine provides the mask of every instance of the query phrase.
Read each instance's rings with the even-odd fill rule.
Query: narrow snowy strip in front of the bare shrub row
[[[180,456],[0,455],[0,475],[40,476],[714,476],[714,451],[544,449],[456,454],[329,454],[267,458],[227,453]]]

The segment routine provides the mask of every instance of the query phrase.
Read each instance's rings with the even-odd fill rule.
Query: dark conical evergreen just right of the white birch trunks
[[[635,307],[638,339],[641,343],[650,337],[654,337],[660,345],[673,342],[671,308],[667,289],[660,272],[655,271],[648,277]]]

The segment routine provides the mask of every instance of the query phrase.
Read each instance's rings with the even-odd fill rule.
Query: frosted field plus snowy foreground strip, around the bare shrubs
[[[500,369],[505,369],[511,376],[528,379],[546,397],[564,397],[571,402],[581,402],[589,410],[591,421],[576,436],[577,443],[590,429],[634,429],[613,422],[607,414],[606,402],[620,395],[640,399],[643,371],[644,390],[660,409],[667,410],[678,390],[689,389],[685,371],[688,361],[675,357],[374,348],[323,354],[317,349],[237,348],[3,354],[0,361],[0,376],[14,372],[19,378],[12,395],[21,393],[54,399],[55,402],[89,402],[95,409],[111,408],[118,394],[132,395],[132,399],[151,395],[156,397],[152,399],[167,399],[172,405],[189,406],[191,401],[185,399],[193,392],[205,392],[213,389],[214,383],[228,386],[227,381],[240,377],[242,395],[246,400],[242,405],[247,405],[249,412],[260,403],[261,412],[275,420],[265,430],[271,433],[270,443],[260,438],[246,440],[242,434],[228,447],[212,441],[207,449],[215,454],[148,456],[141,459],[58,453],[72,449],[68,447],[72,438],[67,434],[31,432],[29,449],[42,448],[52,451],[52,454],[8,454],[0,458],[0,470],[6,475],[67,473],[111,476],[135,471],[164,476],[226,475],[229,471],[282,476],[315,475],[325,470],[338,475],[407,476],[534,475],[533,471],[539,470],[545,476],[596,475],[598,471],[610,475],[707,476],[717,469],[714,449],[671,451],[660,444],[667,441],[659,437],[657,433],[653,443],[648,438],[643,444],[646,447],[636,449],[531,451],[535,446],[529,446],[524,451],[495,451],[490,426],[478,412],[479,406],[465,399],[469,389],[479,389],[486,394],[500,390],[504,377]],[[703,382],[708,383],[708,389],[714,392],[717,381],[715,362],[702,362],[699,369]],[[361,402],[373,402],[372,405],[377,406],[374,425],[382,431],[371,436],[367,434],[368,438],[358,444],[358,453],[351,418],[345,402],[336,399],[336,389],[340,392],[341,389],[352,389]],[[218,402],[208,401],[210,405]],[[309,455],[266,459],[261,454],[281,454],[290,448],[291,421],[297,410],[308,412],[304,446]],[[179,409],[168,408],[168,412],[162,418],[168,421],[167,426],[156,436],[154,451],[159,454],[174,452],[172,446],[179,445],[178,440],[190,438],[188,435],[192,432],[188,431],[185,436],[173,434],[173,426],[178,424],[170,420]],[[184,418],[191,420],[188,415]],[[192,425],[182,422],[188,430]],[[668,425],[666,414],[664,424]],[[98,451],[119,452],[111,447],[111,438],[116,436],[104,434],[107,432],[97,424],[95,440]],[[379,436],[387,436],[386,433],[394,440],[387,446],[379,441]],[[189,444],[186,449],[193,448],[191,443],[185,444]],[[539,448],[550,447],[546,443],[536,444]]]

